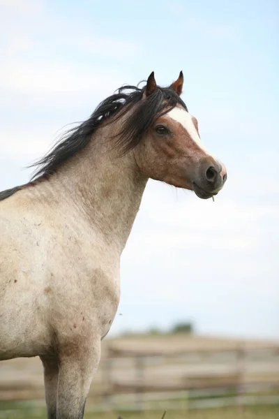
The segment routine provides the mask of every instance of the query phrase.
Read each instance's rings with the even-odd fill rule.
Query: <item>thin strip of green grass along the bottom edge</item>
[[[162,411],[85,413],[84,419],[161,419]],[[43,407],[0,402],[1,419],[45,419]],[[237,408],[210,409],[206,411],[167,411],[165,419],[276,419],[279,418],[279,406],[252,406],[241,410]]]

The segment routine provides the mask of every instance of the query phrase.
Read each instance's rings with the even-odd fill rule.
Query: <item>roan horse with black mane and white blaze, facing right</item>
[[[119,304],[119,266],[149,178],[215,196],[223,163],[154,72],[123,85],[0,193],[0,360],[38,356],[48,419],[82,419]],[[31,167],[30,166],[30,167]]]

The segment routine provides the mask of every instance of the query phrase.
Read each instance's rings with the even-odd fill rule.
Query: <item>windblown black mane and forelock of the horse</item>
[[[145,86],[142,89],[135,86],[120,87],[115,94],[101,102],[89,119],[67,131],[46,156],[29,166],[37,168],[31,182],[52,175],[61,164],[86,147],[100,124],[103,122],[111,124],[124,113],[129,112],[137,103],[139,105],[131,112],[121,132],[115,134],[115,136],[119,135],[117,146],[123,153],[136,147],[144,133],[151,128],[155,118],[168,112],[177,104],[187,110],[186,104],[170,87],[157,86],[156,91],[140,103],[144,89]],[[0,201],[20,189],[22,186],[0,192]]]

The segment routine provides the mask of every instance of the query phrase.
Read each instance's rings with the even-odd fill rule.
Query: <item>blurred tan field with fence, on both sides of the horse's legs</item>
[[[122,411],[123,419],[160,419],[165,410],[165,419],[279,418],[279,342],[187,334],[105,339],[85,418],[117,419]],[[0,419],[8,418],[45,418],[38,358],[0,362]]]

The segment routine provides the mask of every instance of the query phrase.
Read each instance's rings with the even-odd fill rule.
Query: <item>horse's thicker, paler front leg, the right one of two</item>
[[[86,339],[86,338],[85,338]],[[88,344],[88,342],[87,342]],[[82,419],[93,373],[100,360],[100,341],[91,348],[66,348],[59,355],[56,419]]]

